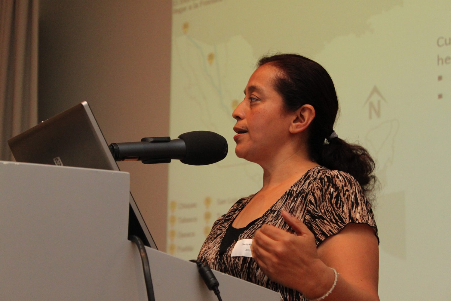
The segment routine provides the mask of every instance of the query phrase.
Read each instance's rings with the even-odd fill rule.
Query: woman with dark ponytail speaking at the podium
[[[244,94],[235,153],[263,168],[263,186],[216,220],[198,260],[282,300],[379,300],[374,162],[334,131],[329,74],[303,56],[263,57]]]

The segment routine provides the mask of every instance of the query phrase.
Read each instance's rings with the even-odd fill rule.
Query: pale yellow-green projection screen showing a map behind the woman
[[[170,163],[168,253],[195,259],[216,218],[261,188],[262,169],[235,156],[231,114],[259,57],[294,52],[331,74],[336,132],[377,161],[381,300],[448,300],[451,2],[172,2],[170,135],[210,130],[230,149]]]

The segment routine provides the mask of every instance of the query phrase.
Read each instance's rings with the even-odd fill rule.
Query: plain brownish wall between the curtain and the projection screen
[[[168,136],[170,43],[171,1],[40,0],[39,120],[87,101],[108,144]],[[167,164],[119,167],[165,251]]]

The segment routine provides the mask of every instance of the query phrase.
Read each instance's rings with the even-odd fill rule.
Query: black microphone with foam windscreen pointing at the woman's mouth
[[[142,161],[145,164],[169,163],[171,159],[189,165],[207,165],[224,159],[227,140],[210,131],[181,134],[178,139],[148,137],[141,142],[112,143],[109,146],[115,161]]]

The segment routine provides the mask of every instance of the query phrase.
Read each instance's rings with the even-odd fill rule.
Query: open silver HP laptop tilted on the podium
[[[119,171],[87,102],[82,102],[8,140],[18,162]],[[129,235],[156,249],[130,193]]]

